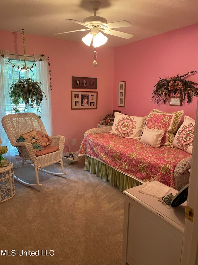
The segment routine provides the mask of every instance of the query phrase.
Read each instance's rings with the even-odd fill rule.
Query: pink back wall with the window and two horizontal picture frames
[[[0,48],[23,54],[20,33],[0,31]],[[53,135],[64,135],[71,142],[71,152],[79,150],[84,132],[113,111],[114,49],[97,48],[97,67],[92,65],[94,48],[84,43],[25,34],[26,54],[45,54],[51,63],[51,98]],[[98,107],[92,110],[71,110],[72,76],[97,78]],[[79,89],[84,91],[84,89]],[[88,90],[87,91],[91,91]],[[72,146],[72,139],[76,145]],[[68,142],[65,143],[67,152]]]

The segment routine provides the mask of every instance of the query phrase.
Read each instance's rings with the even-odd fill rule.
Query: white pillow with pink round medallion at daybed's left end
[[[142,134],[142,128],[145,125],[147,120],[146,117],[136,117],[136,116],[129,116],[119,112],[114,113],[114,123],[112,126],[111,134],[126,137],[126,138],[133,138],[133,139],[140,139]]]

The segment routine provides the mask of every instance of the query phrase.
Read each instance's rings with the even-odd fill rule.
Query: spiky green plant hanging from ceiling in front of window
[[[23,34],[23,44],[24,44],[24,66],[21,70],[26,70],[27,72],[32,71],[26,65],[26,52],[25,52],[25,36],[24,30],[22,30]],[[42,61],[42,59],[41,59]],[[36,62],[35,62],[36,65]],[[41,89],[41,82],[37,82],[34,80],[34,73],[33,78],[21,78],[19,71],[19,80],[17,82],[13,82],[9,89],[9,94],[12,103],[15,105],[14,111],[19,112],[19,105],[25,103],[25,108],[30,106],[31,108],[37,107],[39,110],[40,104],[43,100],[43,95],[45,95],[44,91]],[[46,98],[46,95],[45,95]]]

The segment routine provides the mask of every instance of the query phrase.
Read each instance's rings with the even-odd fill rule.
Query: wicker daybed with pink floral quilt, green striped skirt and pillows
[[[183,111],[153,110],[146,117],[115,112],[112,127],[85,132],[79,150],[84,169],[121,191],[153,180],[179,190],[189,181],[195,124],[184,116],[181,125],[182,116]]]

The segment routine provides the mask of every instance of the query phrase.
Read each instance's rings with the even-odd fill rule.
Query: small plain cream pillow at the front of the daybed
[[[143,134],[140,142],[150,145],[152,147],[160,147],[161,138],[164,135],[164,130],[157,130],[155,128],[149,129],[146,126],[143,128]]]

